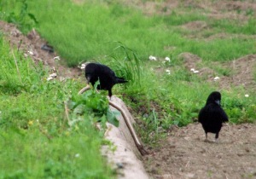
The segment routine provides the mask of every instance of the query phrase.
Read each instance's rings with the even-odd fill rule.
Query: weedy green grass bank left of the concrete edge
[[[93,125],[105,113],[89,107],[67,122],[64,101],[78,102],[82,83],[47,81],[43,67],[3,37],[0,46],[0,178],[114,178],[100,152],[102,132]]]

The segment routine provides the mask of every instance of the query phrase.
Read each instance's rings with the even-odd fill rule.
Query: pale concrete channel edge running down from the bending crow
[[[142,158],[143,148],[138,148],[137,142],[134,140],[134,136],[131,134],[131,130],[127,127],[125,122],[128,119],[131,125],[135,123],[131,113],[128,111],[125,103],[118,97],[112,96],[111,103],[119,106],[122,110],[122,115],[118,116],[119,127],[115,127],[113,124],[107,124],[108,130],[105,133],[105,138],[113,142],[116,146],[114,152],[109,151],[107,146],[102,147],[102,154],[107,156],[108,162],[115,168],[119,168],[118,178],[149,178],[146,170],[143,167],[143,163],[140,160]],[[117,110],[110,106],[111,110]],[[125,115],[125,118],[124,118]]]

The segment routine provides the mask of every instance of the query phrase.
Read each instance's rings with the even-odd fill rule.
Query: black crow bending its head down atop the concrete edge
[[[113,70],[108,66],[98,63],[88,63],[85,66],[85,78],[87,80],[87,87],[89,84],[96,84],[99,80],[100,84],[97,85],[97,90],[108,90],[108,96],[112,96],[112,87],[114,84],[123,84],[128,82],[125,78],[119,78],[115,76]],[[85,87],[86,88],[86,87]],[[79,93],[83,93],[80,91]]]

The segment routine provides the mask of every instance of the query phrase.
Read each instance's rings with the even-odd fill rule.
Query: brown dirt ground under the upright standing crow
[[[201,124],[189,124],[144,158],[146,170],[154,178],[256,178],[255,130],[255,124],[225,124],[215,143],[204,141]]]

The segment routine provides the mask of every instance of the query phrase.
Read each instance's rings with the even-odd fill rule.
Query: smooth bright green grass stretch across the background
[[[2,3],[4,11],[17,11],[18,14],[18,8],[10,9],[14,2],[15,0],[11,0]],[[180,25],[203,20],[213,32],[218,29],[227,33],[255,34],[253,18],[240,25],[231,20],[209,19],[196,9],[183,9],[186,13],[179,13],[177,9],[167,16],[147,17],[140,11],[119,3],[88,1],[76,4],[60,0],[26,2],[27,12],[33,14],[38,21],[35,26],[40,34],[55,46],[70,66],[91,59],[102,61],[102,56],[111,54],[115,41],[134,49],[142,60],[148,60],[149,55],[177,56],[184,51],[199,55],[206,61],[229,61],[241,55],[256,53],[254,39],[227,38],[205,42],[185,38],[177,30]],[[19,7],[20,3],[16,4],[15,7]],[[166,47],[175,49],[167,50]]]

